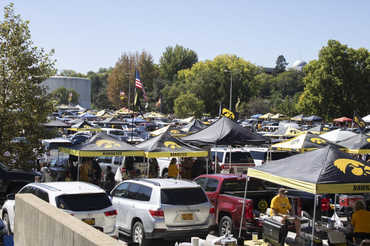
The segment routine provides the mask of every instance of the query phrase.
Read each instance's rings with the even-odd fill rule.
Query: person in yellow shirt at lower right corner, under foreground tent
[[[370,212],[366,211],[363,200],[357,200],[353,205],[351,223],[354,226],[354,239],[370,239]]]

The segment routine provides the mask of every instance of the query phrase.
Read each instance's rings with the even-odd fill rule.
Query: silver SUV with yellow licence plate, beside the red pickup
[[[215,208],[201,186],[181,179],[125,180],[111,191],[119,233],[140,246],[151,239],[199,237],[215,231]]]

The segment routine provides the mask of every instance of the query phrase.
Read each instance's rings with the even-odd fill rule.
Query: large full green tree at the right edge
[[[306,87],[297,111],[326,119],[369,114],[370,53],[329,40],[319,59],[304,66]]]

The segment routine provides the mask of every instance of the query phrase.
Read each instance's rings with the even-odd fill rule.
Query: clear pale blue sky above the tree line
[[[12,0],[31,39],[55,49],[55,67],[86,73],[114,66],[122,52],[182,45],[199,60],[235,54],[257,65],[317,59],[328,39],[370,48],[369,1]],[[9,4],[1,1],[2,5]],[[1,13],[1,20],[3,14]]]

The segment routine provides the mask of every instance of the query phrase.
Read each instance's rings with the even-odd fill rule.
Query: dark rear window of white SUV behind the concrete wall
[[[112,205],[105,193],[60,195],[57,202],[58,208],[76,212],[100,210]]]

